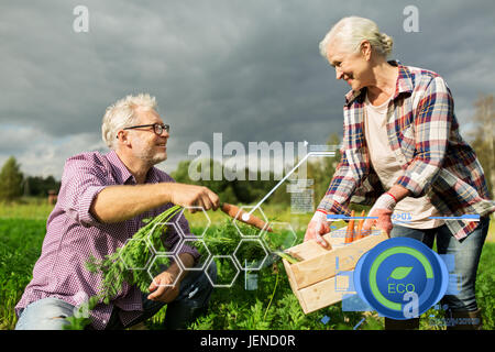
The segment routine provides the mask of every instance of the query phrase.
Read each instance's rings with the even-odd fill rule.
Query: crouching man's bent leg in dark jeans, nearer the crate
[[[208,277],[206,272],[208,272]],[[180,283],[180,292],[174,301],[167,305],[165,329],[184,329],[187,324],[207,311],[217,282],[215,261],[201,271],[189,271]]]

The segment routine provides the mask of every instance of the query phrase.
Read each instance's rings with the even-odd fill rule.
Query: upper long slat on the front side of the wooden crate
[[[369,235],[342,246],[334,244],[333,249],[316,256],[308,256],[305,261],[290,265],[292,275],[298,289],[308,287],[326,278],[336,276],[338,272],[353,270],[361,255],[370,251],[380,242],[388,239],[385,233]],[[314,242],[314,241],[312,241]],[[307,243],[307,242],[305,242]],[[309,244],[309,243],[308,243]],[[319,245],[317,243],[314,243]],[[314,252],[312,246],[310,248]],[[292,253],[292,251],[287,251]],[[299,251],[300,253],[301,251]]]

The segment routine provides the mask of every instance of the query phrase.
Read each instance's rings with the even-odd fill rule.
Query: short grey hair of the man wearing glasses
[[[114,150],[117,147],[117,133],[125,127],[136,124],[135,110],[156,110],[156,99],[147,94],[127,96],[107,108],[101,124],[101,136],[107,145]]]

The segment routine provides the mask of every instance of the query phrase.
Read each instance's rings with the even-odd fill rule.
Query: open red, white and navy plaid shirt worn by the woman
[[[483,168],[459,133],[453,99],[436,73],[398,66],[398,79],[387,110],[388,143],[404,174],[396,184],[411,197],[427,195],[444,217],[487,216],[495,211]],[[345,96],[342,155],[318,209],[350,215],[350,202],[373,205],[385,189],[370,163],[364,138],[366,88]],[[446,221],[452,234],[465,238],[476,221]]]

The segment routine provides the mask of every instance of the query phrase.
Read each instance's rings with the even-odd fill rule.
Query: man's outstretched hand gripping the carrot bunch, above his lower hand
[[[169,193],[170,202],[182,207],[199,207],[205,210],[217,210],[220,206],[220,198],[207,187],[186,185],[178,183],[166,184],[166,191]],[[195,212],[191,209],[191,212]]]

